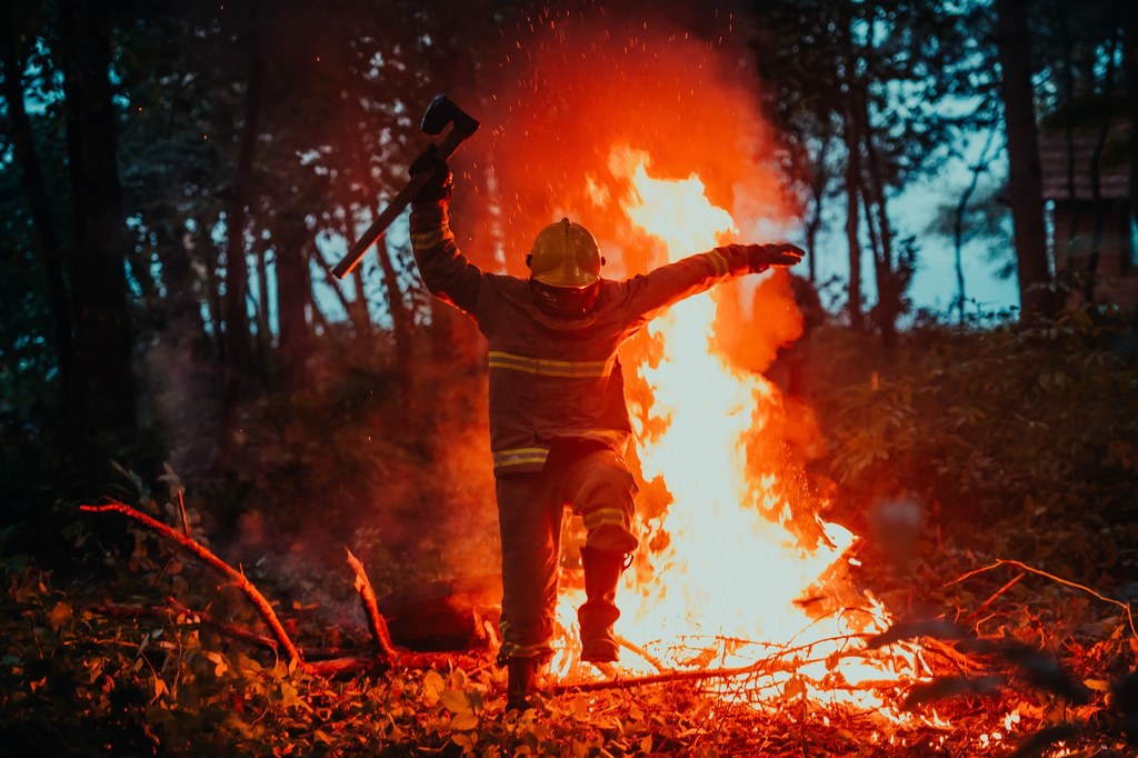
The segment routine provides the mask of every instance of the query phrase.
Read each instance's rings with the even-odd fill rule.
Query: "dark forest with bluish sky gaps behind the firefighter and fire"
[[[831,518],[872,535],[874,509],[904,496],[927,516],[925,579],[947,578],[938,560],[998,555],[1138,598],[1138,316],[1103,285],[1135,275],[1135,3],[615,5],[3,3],[10,602],[33,602],[33,569],[90,584],[158,550],[79,517],[101,497],[155,514],[184,497],[196,534],[234,560],[271,555],[262,576],[292,577],[297,603],[343,602],[299,566],[343,561],[345,544],[394,590],[493,568],[479,335],[430,299],[398,225],[344,285],[331,267],[403,186],[428,143],[422,109],[446,92],[484,124],[452,162],[460,241],[520,271],[522,219],[556,203],[503,191],[495,160],[522,137],[496,125],[558,102],[525,77],[534,51],[564,42],[559,25],[649,46],[650,25],[682,30],[758,83],[808,253],[805,335],[769,376],[817,415],[811,476],[832,487]],[[1045,143],[1065,156],[1071,200],[1090,187],[1062,222]],[[910,230],[893,204],[921,184],[942,207]],[[1107,254],[1115,238],[1123,253]],[[975,244],[1015,278],[1019,308],[970,298]],[[914,307],[914,271],[946,249],[953,307]],[[816,262],[835,255],[848,275],[822,280]],[[935,595],[901,584],[899,603],[917,585]]]

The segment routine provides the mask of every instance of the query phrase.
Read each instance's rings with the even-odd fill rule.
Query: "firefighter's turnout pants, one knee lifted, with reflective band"
[[[582,516],[588,551],[622,559],[637,545],[632,533],[636,492],[624,459],[586,442],[554,446],[539,473],[498,477],[503,658],[546,660],[553,653],[564,509]],[[591,596],[586,605],[615,620],[619,611],[612,592],[605,594]]]

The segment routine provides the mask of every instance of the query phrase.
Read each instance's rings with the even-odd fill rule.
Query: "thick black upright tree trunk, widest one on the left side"
[[[97,0],[59,5],[72,183],[68,258],[75,328],[74,407],[82,432],[135,429],[125,224],[110,86],[110,17]]]

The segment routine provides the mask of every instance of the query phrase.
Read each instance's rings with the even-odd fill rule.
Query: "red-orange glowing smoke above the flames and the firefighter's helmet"
[[[660,263],[620,208],[632,184],[611,168],[618,150],[650,155],[654,178],[698,174],[741,232],[785,217],[744,38],[728,11],[659,5],[546,7],[506,28],[501,63],[484,83],[487,133],[461,158],[485,160],[493,174],[497,201],[483,223],[501,239],[506,271],[523,275],[537,231],[563,215],[601,241],[607,275]],[[469,158],[473,151],[479,158]]]

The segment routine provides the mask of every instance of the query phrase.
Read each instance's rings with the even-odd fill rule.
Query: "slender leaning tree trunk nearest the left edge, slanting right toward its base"
[[[16,19],[13,3],[6,3],[0,18],[0,56],[3,66],[3,97],[8,101],[10,123],[9,139],[16,163],[19,166],[24,191],[27,195],[32,217],[32,236],[35,254],[43,263],[47,274],[48,303],[51,306],[52,346],[56,365],[59,368],[59,411],[61,418],[71,419],[74,409],[72,396],[75,392],[74,341],[72,340],[71,306],[67,302],[67,282],[64,278],[63,256],[56,237],[55,221],[51,219],[51,200],[40,158],[35,153],[32,124],[24,109],[24,60],[16,36]]]

